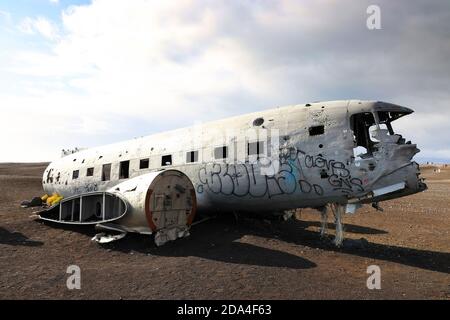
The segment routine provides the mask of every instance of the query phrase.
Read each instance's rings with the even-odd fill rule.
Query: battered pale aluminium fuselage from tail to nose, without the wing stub
[[[192,182],[197,209],[209,213],[278,214],[331,203],[353,212],[426,189],[412,161],[419,149],[391,125],[412,112],[358,100],[276,108],[67,155],[48,166],[43,187],[70,197],[175,169]],[[140,169],[143,159],[148,168]]]

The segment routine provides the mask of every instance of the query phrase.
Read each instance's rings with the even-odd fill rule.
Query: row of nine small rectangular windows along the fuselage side
[[[264,142],[256,141],[249,142],[247,144],[247,155],[261,155],[264,154]],[[228,146],[221,146],[214,148],[214,158],[216,160],[228,158]],[[186,152],[186,163],[198,162],[198,150]],[[172,155],[163,155],[161,157],[161,166],[172,165]],[[150,167],[150,159],[141,159],[139,161],[139,169],[144,170]],[[80,170],[74,170],[72,173],[72,179],[78,179],[80,176]],[[94,176],[94,168],[87,168],[87,177]],[[128,179],[130,177],[130,161],[122,161],[119,165],[119,179]],[[111,163],[104,164],[102,167],[102,181],[111,180]]]

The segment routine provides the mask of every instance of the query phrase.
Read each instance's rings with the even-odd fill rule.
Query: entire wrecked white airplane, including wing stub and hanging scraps
[[[189,235],[197,212],[289,217],[315,208],[323,235],[331,209],[340,246],[344,213],[427,188],[412,161],[419,149],[392,127],[412,112],[378,101],[308,103],[65,151],[44,172],[52,196],[35,213],[95,225],[109,232],[93,238],[101,243],[137,232],[162,245]]]

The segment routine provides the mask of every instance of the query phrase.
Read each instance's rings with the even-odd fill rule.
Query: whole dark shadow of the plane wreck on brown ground
[[[297,220],[268,224],[256,219],[240,219],[239,223],[236,224],[232,215],[223,215],[193,226],[191,236],[169,242],[162,247],[156,247],[152,237],[139,234],[128,234],[127,237],[120,241],[102,246],[121,252],[136,251],[145,254],[171,257],[197,256],[235,264],[297,269],[313,268],[316,266],[314,262],[293,254],[238,242],[245,235],[255,235],[266,239],[276,238],[281,241],[310,248],[343,252],[365,258],[400,263],[425,270],[450,273],[450,253],[389,246],[368,241],[362,245],[354,245],[356,240],[352,239],[345,239],[344,246],[342,248],[336,248],[331,241],[332,237],[327,237],[325,240],[322,240],[319,237],[319,232],[307,230],[311,225],[310,222]],[[81,226],[59,224],[52,224],[52,226],[59,226],[89,236],[93,236],[96,233],[92,227],[83,229]],[[348,226],[345,225],[345,228],[347,229]],[[365,231],[367,232],[367,229]]]

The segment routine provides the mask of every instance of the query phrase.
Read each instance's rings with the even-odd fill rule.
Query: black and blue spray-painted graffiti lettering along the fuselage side
[[[261,174],[267,168],[277,170]],[[322,169],[318,177],[311,177],[312,168]],[[272,198],[295,192],[322,196],[325,187],[344,194],[364,191],[361,179],[352,177],[345,163],[308,155],[295,147],[280,148],[275,160],[261,157],[253,163],[204,164],[198,171],[198,179],[198,193],[207,191],[236,197]]]

